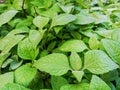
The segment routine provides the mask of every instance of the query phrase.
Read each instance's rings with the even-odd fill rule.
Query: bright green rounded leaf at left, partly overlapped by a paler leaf
[[[25,38],[18,44],[17,52],[18,56],[24,60],[34,60],[38,55],[39,49],[32,45],[29,38]]]

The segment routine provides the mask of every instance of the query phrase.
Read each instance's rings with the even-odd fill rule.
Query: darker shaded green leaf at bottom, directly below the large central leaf
[[[63,85],[68,84],[67,80],[60,76],[52,76],[51,77],[51,84],[53,90],[60,90],[60,87]]]

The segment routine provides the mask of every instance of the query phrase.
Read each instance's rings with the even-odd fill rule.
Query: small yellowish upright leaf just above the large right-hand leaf
[[[89,47],[91,49],[98,49],[99,48],[99,41],[97,40],[96,37],[92,36],[89,39]]]

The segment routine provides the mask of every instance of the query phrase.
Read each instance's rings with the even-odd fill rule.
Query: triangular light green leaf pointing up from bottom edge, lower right
[[[111,88],[102,79],[93,75],[89,90],[111,90]]]

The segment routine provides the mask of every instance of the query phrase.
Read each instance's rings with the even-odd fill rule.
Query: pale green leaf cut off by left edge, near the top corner
[[[0,27],[9,22],[16,14],[18,11],[16,10],[9,10],[7,12],[4,12],[0,15]]]

